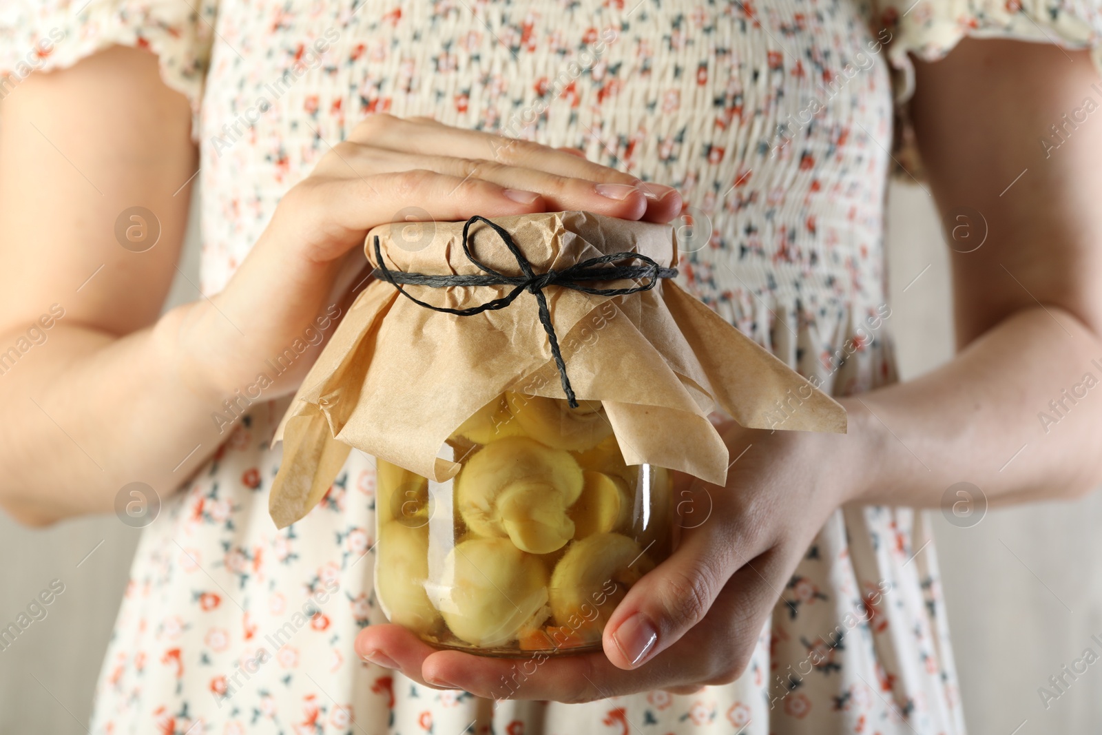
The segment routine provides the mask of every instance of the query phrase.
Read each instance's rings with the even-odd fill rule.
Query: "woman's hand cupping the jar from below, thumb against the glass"
[[[680,542],[616,608],[603,652],[486,658],[434,649],[397,625],[368,626],[356,651],[423,684],[487,699],[576,703],[734,681],[797,563],[847,499],[842,451],[852,442],[734,423],[720,431],[733,460],[726,486],[679,477]]]

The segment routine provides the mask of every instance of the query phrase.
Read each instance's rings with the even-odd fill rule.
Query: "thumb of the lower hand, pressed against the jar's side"
[[[695,497],[679,494],[682,502],[710,509],[720,499],[716,496],[726,490],[696,483],[690,493]],[[617,667],[642,666],[704,619],[739,566],[733,548],[743,540],[732,538],[719,514],[695,528],[682,526],[679,530],[681,539],[670,558],[628,591],[605,626],[605,653]]]

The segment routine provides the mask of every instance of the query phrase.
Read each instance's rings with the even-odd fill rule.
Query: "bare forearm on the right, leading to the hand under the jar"
[[[1001,504],[1102,482],[1102,341],[1056,307],[1016,312],[941,368],[843,403],[850,433],[825,441],[850,457],[850,500],[936,506],[968,482]]]

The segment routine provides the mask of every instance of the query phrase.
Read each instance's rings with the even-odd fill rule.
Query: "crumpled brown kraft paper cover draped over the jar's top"
[[[677,260],[670,225],[587,212],[493,221],[511,234],[536,273],[622,251],[648,256],[661,267]],[[424,237],[415,244],[402,238],[402,225],[376,227],[367,237],[368,258],[378,266],[378,236],[391,271],[485,274],[463,251],[464,223],[422,227]],[[486,266],[521,274],[516,257],[485,223],[472,224],[468,246]],[[434,306],[466,309],[514,287],[403,288]],[[722,485],[730,458],[707,418],[714,410],[753,429],[845,432],[839,403],[671,279],[629,295],[593,295],[560,285],[543,293],[573,390],[579,400],[602,401],[627,464],[668,467]],[[449,479],[460,465],[437,456],[445,440],[506,390],[564,397],[532,293],[521,293],[505,309],[458,316],[425,309],[374,279],[277,430],[283,460],[269,500],[272,519],[283,528],[305,516],[350,447],[435,482]],[[781,423],[778,400],[791,407]]]

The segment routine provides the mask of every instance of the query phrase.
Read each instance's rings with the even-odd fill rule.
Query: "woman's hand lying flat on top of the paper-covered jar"
[[[315,317],[363,278],[359,248],[377,225],[406,221],[410,212],[413,219],[464,220],[562,209],[669,221],[681,198],[577,151],[372,115],[287,193],[222,293],[170,315],[184,379],[220,400],[255,381],[266,360],[305,342]],[[268,397],[293,391],[315,357],[296,359]]]

